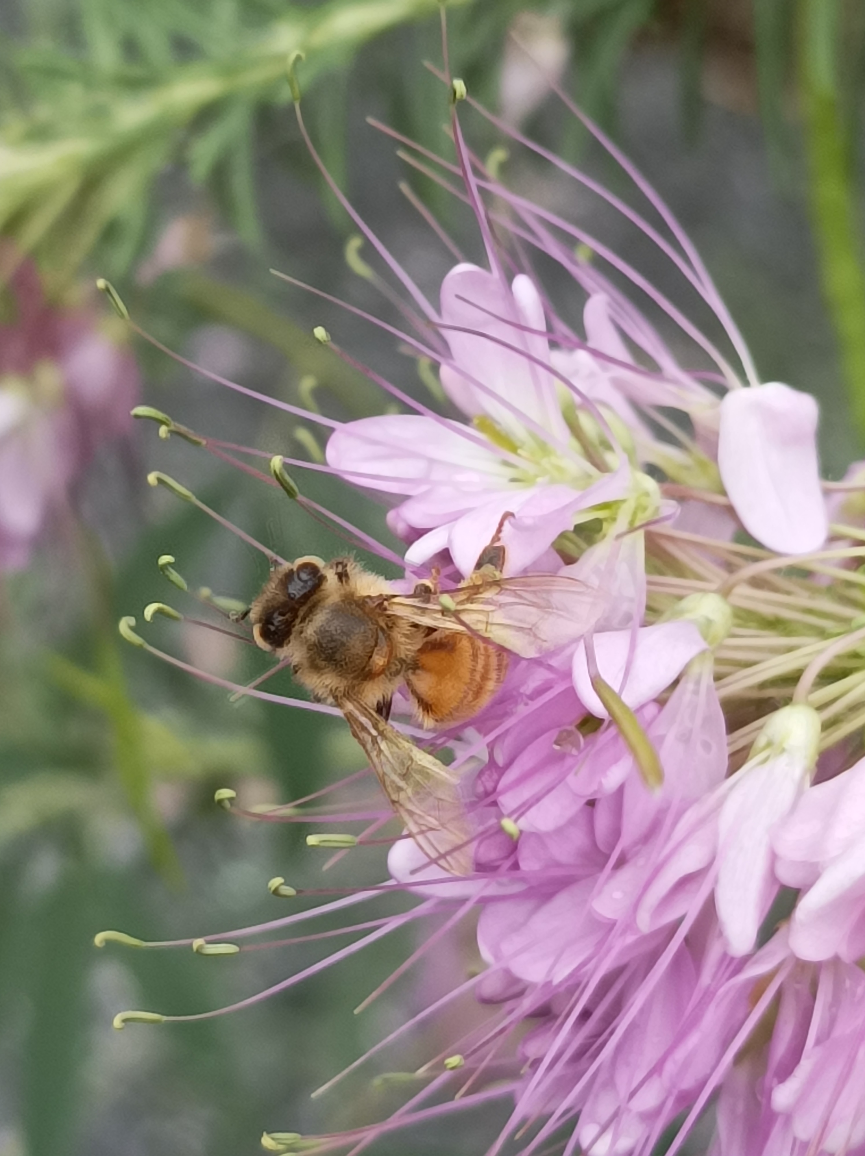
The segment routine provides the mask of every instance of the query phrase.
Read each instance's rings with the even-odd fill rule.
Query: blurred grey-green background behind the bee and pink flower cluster
[[[696,243],[763,379],[820,398],[825,472],[841,476],[865,439],[862,3],[464,0],[448,5],[448,25],[454,75],[511,125],[641,203],[539,83],[516,34],[637,163]],[[272,876],[340,888],[383,877],[384,864],[357,851],[321,876],[328,853],[308,849],[303,830],[213,802],[220,787],[252,808],[290,800],[360,769],[342,725],[231,704],[117,630],[134,615],[155,645],[228,680],[266,668],[188,622],[145,624],[153,601],[197,614],[160,572],[163,555],[192,592],[239,603],[267,573],[260,553],[148,487],[149,470],[284,556],[345,549],[280,490],[160,439],[131,407],[313,464],[319,428],[148,344],[94,284],[109,277],[142,329],[268,397],[341,420],[389,403],[312,340],[324,324],[429,402],[414,362],[379,333],[268,271],[395,316],[347,258],[356,230],[301,139],[296,50],[317,148],[422,288],[435,299],[453,259],[400,181],[482,259],[471,217],[365,121],[450,158],[448,92],[423,67],[442,60],[438,5],[2,0],[0,32],[0,1156],[241,1156],[260,1150],[265,1128],[331,1131],[392,1110],[389,1082],[372,1077],[416,1067],[446,1025],[328,1097],[309,1094],[441,992],[441,972],[465,973],[471,934],[360,1016],[352,1009],[411,951],[409,932],[235,1015],[112,1031],[124,1008],[219,1008],[324,949],[97,950],[99,929],[224,933],[302,909],[268,894]],[[461,120],[480,156],[507,146],[466,106]],[[693,310],[644,238],[510,151],[503,179],[598,231]],[[375,502],[291,473],[306,497],[395,544]],[[267,689],[298,695],[283,676]],[[489,1121],[459,1125],[411,1150],[482,1151]]]

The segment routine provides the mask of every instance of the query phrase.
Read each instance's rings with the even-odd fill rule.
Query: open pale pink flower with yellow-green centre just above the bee
[[[442,385],[476,429],[426,416],[368,417],[331,436],[327,461],[358,484],[408,495],[391,524],[412,539],[411,564],[449,550],[467,575],[479,543],[510,514],[502,542],[508,572],[518,573],[593,506],[623,498],[628,472],[599,473],[575,446],[550,372],[544,306],[527,276],[508,288],[458,265],[442,284],[441,310],[451,350]]]

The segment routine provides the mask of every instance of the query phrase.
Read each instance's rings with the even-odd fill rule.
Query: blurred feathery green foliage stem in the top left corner
[[[436,8],[437,0],[37,8],[44,31],[14,53],[0,124],[0,232],[62,273],[96,252],[117,275],[147,235],[153,181],[179,161],[193,181],[222,191],[235,228],[254,242],[253,124],[260,108],[290,102],[290,55],[305,53],[302,82],[313,86],[364,40]]]

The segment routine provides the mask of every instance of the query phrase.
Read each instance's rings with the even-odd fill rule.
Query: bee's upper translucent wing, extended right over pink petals
[[[453,609],[422,594],[392,594],[386,609],[420,625],[480,635],[522,658],[577,642],[604,612],[600,591],[565,575],[468,578],[444,596]]]

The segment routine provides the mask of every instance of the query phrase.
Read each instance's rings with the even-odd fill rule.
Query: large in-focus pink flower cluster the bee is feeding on
[[[453,977],[417,1022],[451,1000],[489,1017],[466,1017],[391,1120],[266,1147],[360,1151],[504,1099],[488,1156],[649,1156],[661,1140],[673,1154],[711,1113],[714,1156],[865,1156],[865,532],[840,501],[862,483],[827,498],[816,403],[760,381],[687,237],[600,133],[663,228],[489,119],[572,178],[575,198],[589,186],[626,214],[724,338],[501,184],[456,113],[459,163],[439,170],[463,178],[486,267],[460,261],[435,306],[355,216],[409,303],[398,338],[437,364],[449,407],[370,371],[416,412],[328,421],[330,469],[386,496],[413,577],[435,566],[456,585],[497,538],[505,575],[576,579],[594,612],[569,633],[540,607],[544,653],[512,658],[485,710],[435,736],[463,775],[472,873],[399,838],[384,891],[420,902],[333,957],[476,916],[485,970]],[[545,294],[532,254],[570,275],[582,317]],[[622,277],[703,368],[682,368]]]

